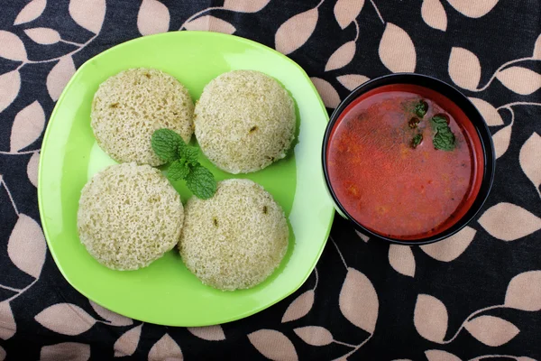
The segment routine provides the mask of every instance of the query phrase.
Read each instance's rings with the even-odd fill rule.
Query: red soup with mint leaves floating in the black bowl
[[[472,206],[483,154],[475,128],[450,99],[396,84],[344,109],[330,134],[326,167],[336,198],[358,223],[415,240],[452,227]]]

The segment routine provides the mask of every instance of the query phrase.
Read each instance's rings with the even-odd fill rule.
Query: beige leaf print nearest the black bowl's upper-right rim
[[[475,90],[481,80],[481,63],[477,55],[467,49],[454,47],[449,56],[449,76],[457,86]]]

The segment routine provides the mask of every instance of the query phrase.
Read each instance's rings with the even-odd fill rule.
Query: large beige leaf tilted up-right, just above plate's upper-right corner
[[[298,50],[316,29],[317,7],[297,14],[280,25],[274,35],[274,47],[283,54]]]

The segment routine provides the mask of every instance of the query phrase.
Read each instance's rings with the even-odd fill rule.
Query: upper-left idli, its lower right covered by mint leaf
[[[186,143],[193,134],[194,104],[179,80],[158,69],[128,69],[96,91],[91,125],[97,143],[116,162],[160,165],[152,152],[155,130],[169,128]]]

